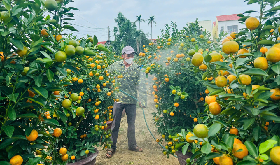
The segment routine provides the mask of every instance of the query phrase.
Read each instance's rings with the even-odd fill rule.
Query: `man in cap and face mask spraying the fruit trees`
[[[139,106],[146,108],[147,104],[147,92],[144,82],[144,72],[141,72],[140,68],[137,68],[137,64],[133,62],[134,49],[131,46],[126,46],[122,49],[122,61],[114,62],[109,66],[108,73],[123,73],[127,70],[133,69],[123,73],[123,78],[118,79],[121,82],[119,89],[126,92],[127,94],[137,98],[137,90],[140,96]],[[136,69],[134,69],[136,68]],[[116,143],[118,139],[120,120],[122,118],[122,111],[125,108],[125,113],[127,115],[127,138],[128,138],[128,149],[136,152],[142,152],[143,149],[136,144],[135,139],[135,118],[136,118],[136,103],[137,100],[131,98],[130,96],[117,92],[117,97],[120,99],[119,102],[114,103],[113,116],[114,120],[112,123],[112,141],[111,149],[106,153],[107,158],[111,158],[116,151]]]

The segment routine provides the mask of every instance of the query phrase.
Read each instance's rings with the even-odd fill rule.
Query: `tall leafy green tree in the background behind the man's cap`
[[[114,27],[115,41],[112,41],[113,48],[117,55],[122,54],[122,46],[131,46],[134,50],[137,50],[137,38],[141,38],[143,44],[148,44],[148,33],[144,33],[142,30],[137,30],[136,23],[128,20],[124,15],[119,12],[118,16],[114,19],[117,24]]]

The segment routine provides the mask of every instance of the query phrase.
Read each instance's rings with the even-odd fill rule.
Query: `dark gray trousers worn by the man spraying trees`
[[[128,148],[134,150],[137,147],[136,139],[135,139],[136,104],[114,103],[114,108],[113,108],[114,120],[112,123],[112,136],[111,136],[113,145],[111,145],[111,148],[113,148],[114,150],[117,148],[116,143],[118,139],[120,120],[122,119],[123,108],[125,108],[125,113],[127,116]]]

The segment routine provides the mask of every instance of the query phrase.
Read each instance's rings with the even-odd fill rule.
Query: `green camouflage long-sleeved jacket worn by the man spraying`
[[[138,65],[134,62],[131,66],[128,67],[127,70],[136,68]],[[120,74],[125,71],[125,65],[122,61],[117,61],[111,64],[108,67],[108,73],[112,74],[116,72]],[[145,73],[141,71],[140,68],[133,69],[131,71],[125,72],[122,74],[123,78],[118,79],[118,82],[121,83],[119,89],[130,94],[131,96],[137,99],[137,90],[139,92],[141,105],[147,107],[147,90],[145,86]],[[124,104],[136,104],[138,101],[131,98],[130,96],[124,94],[123,92],[116,92],[118,99],[120,99],[120,103]]]

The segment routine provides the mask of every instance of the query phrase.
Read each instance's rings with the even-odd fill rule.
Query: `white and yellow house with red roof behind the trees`
[[[238,33],[240,29],[246,28],[244,24],[239,23],[239,18],[241,17],[237,16],[237,14],[216,16],[216,21],[212,24],[212,36],[219,38],[221,31],[228,33],[227,36],[229,36],[231,32]],[[214,39],[214,41],[216,40]]]

